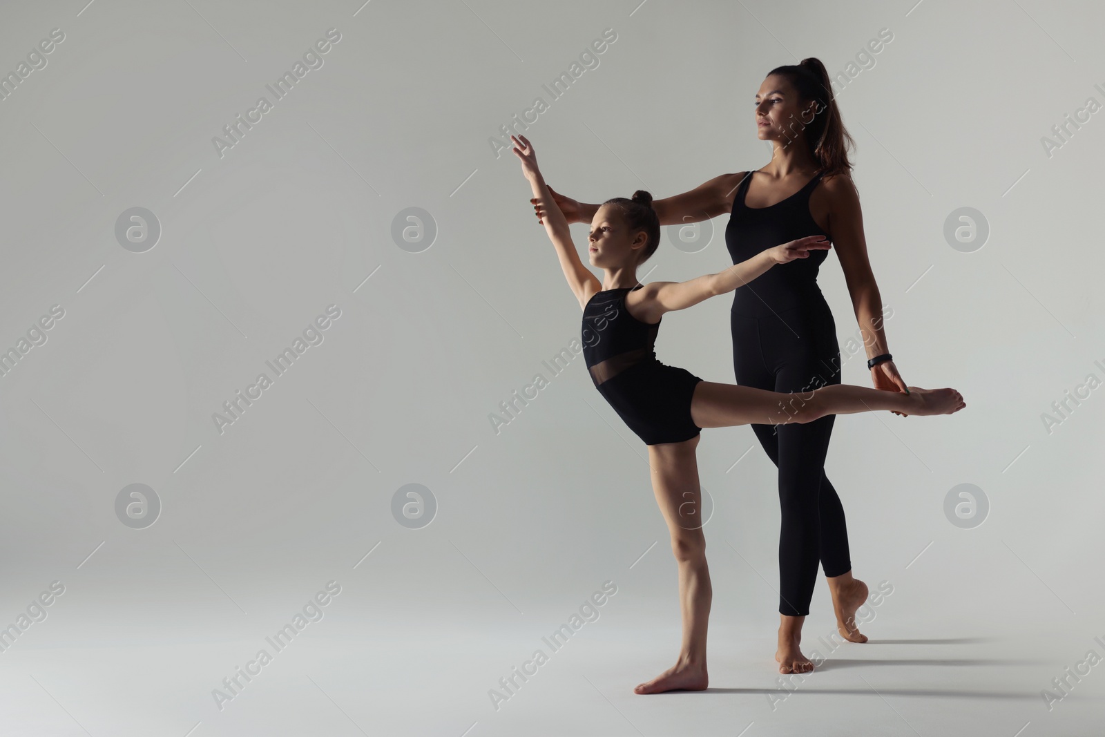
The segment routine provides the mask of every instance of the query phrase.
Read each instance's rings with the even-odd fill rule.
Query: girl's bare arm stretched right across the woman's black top
[[[641,303],[651,303],[645,309],[654,318],[650,322],[655,322],[664,313],[685,309],[703,299],[733,292],[776,264],[808,259],[810,251],[825,251],[829,248],[824,235],[800,238],[761,251],[717,274],[704,274],[686,282],[650,282],[641,289]]]

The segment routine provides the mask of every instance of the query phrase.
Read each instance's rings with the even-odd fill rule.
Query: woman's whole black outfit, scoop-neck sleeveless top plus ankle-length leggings
[[[810,214],[810,193],[821,172],[794,194],[767,208],[749,208],[748,172],[737,188],[725,241],[733,263],[806,235],[825,235]],[[778,264],[739,287],[733,297],[733,367],[737,383],[769,391],[809,391],[840,383],[840,349],[832,312],[818,287],[828,251]],[[809,613],[818,560],[825,576],[852,569],[844,508],[824,473],[835,415],[753,431],[779,467],[779,612]]]

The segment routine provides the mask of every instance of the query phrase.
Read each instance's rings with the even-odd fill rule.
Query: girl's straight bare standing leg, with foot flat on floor
[[[701,382],[699,382],[701,386]],[[649,445],[652,489],[667,523],[672,554],[680,572],[680,609],[683,642],[675,665],[638,685],[638,694],[663,691],[703,691],[706,673],[706,624],[713,589],[706,567],[706,538],[702,531],[702,496],[695,448],[698,436],[682,443]]]

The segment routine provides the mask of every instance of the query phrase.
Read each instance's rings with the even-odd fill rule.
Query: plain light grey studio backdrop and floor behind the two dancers
[[[0,11],[4,734],[1099,725],[1105,674],[1078,666],[1105,655],[1097,3],[85,2]],[[636,697],[678,644],[666,529],[582,358],[544,364],[579,307],[494,141],[541,97],[517,129],[554,188],[669,197],[769,160],[753,98],[804,56],[841,75],[895,362],[968,407],[836,420],[854,572],[893,593],[785,705],[776,470],[749,428],[705,431],[714,698]],[[648,280],[727,266],[726,221],[665,232]],[[820,284],[846,359],[832,253]],[[728,308],[666,316],[659,358],[733,381]],[[843,375],[870,386],[862,348]],[[957,525],[960,484],[981,495]],[[807,642],[833,629],[819,582]]]

